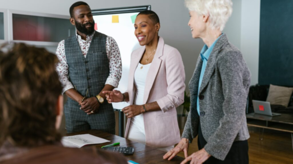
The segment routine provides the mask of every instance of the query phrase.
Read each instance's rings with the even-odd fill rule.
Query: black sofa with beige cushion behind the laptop
[[[254,85],[251,86],[248,93],[247,113],[252,113],[253,105],[252,100],[266,101],[268,97],[270,86],[269,85]],[[293,95],[291,95],[288,107],[282,105],[271,105],[272,112],[278,113],[292,113],[293,114]]]

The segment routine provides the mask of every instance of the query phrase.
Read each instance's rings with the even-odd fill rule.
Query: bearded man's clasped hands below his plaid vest
[[[98,102],[96,97],[90,97],[84,100],[84,102],[80,103],[82,110],[87,114],[94,114],[100,107],[100,103]]]

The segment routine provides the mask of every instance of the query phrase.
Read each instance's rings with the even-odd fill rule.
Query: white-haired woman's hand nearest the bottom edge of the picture
[[[180,164],[186,164],[188,161],[191,161],[190,164],[202,164],[209,159],[211,155],[202,148],[201,150],[192,153],[189,157],[185,158],[184,161]]]

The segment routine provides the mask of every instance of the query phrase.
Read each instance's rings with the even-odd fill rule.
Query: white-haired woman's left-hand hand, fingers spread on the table
[[[182,138],[181,141],[178,143],[178,145],[176,147],[174,147],[173,149],[171,149],[170,151],[168,151],[163,158],[166,160],[171,160],[172,158],[174,158],[180,151],[184,152],[184,156],[185,158],[188,157],[188,139],[186,138]]]

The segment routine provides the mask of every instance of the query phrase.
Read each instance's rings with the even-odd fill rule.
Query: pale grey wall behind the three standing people
[[[69,7],[77,0],[0,0],[0,8],[23,10],[40,13],[69,15]],[[162,36],[165,42],[179,50],[182,55],[186,72],[186,84],[193,74],[197,57],[204,46],[201,39],[193,39],[191,37],[190,28],[188,27],[188,9],[184,6],[184,0],[84,0],[92,9],[113,8],[113,7],[126,7],[137,5],[151,5],[151,9],[155,11],[161,21],[160,36]],[[250,14],[250,4],[254,4],[254,1],[260,0],[232,0],[233,1],[233,13],[227,25],[224,29],[230,39],[230,42],[238,47],[245,56],[246,61],[253,73],[254,77],[257,77],[254,72],[258,72],[258,67],[255,66],[254,57],[250,51],[253,51],[254,55],[258,55],[258,48],[255,50],[246,50],[250,45],[251,38],[250,30],[243,26],[243,23],[247,23],[248,17],[246,14]],[[17,4],[17,5],[16,5]],[[253,5],[252,5],[253,6]],[[257,9],[257,6],[254,8]],[[253,13],[253,12],[252,12]],[[245,18],[243,20],[242,18]],[[257,24],[257,22],[256,22]],[[249,26],[249,25],[247,25]],[[251,27],[254,29],[257,26]],[[244,29],[244,32],[242,31]],[[255,35],[252,33],[251,35]],[[242,39],[244,37],[245,39]],[[258,41],[257,41],[258,44]],[[257,45],[253,44],[253,47]],[[46,47],[49,51],[55,52],[57,47]],[[249,48],[250,49],[250,48]],[[256,53],[257,52],[257,53]],[[258,65],[258,62],[257,62]],[[253,82],[254,83],[254,82]],[[252,83],[251,83],[252,84]],[[188,90],[188,89],[187,89]]]

